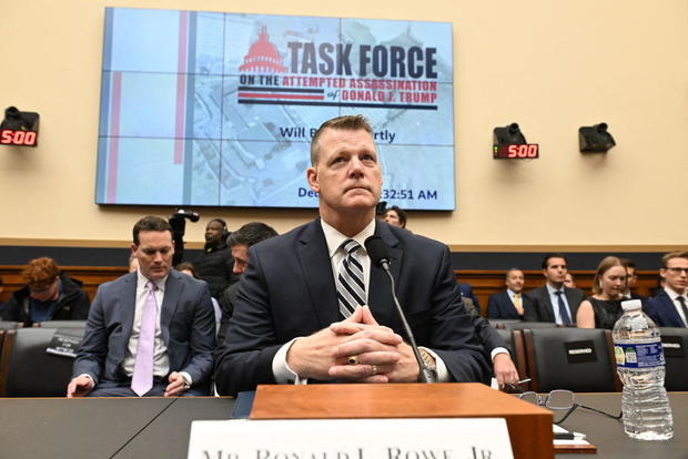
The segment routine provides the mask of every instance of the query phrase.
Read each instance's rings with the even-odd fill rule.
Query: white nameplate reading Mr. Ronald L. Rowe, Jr
[[[503,418],[193,421],[189,459],[513,458]]]

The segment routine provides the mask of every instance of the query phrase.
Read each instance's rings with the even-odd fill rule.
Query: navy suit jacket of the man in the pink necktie
[[[134,320],[136,273],[98,288],[85,335],[74,361],[73,376],[88,374],[98,385],[127,379],[121,364]],[[209,386],[213,371],[215,315],[208,284],[170,271],[160,317],[170,371],[186,371],[194,387]]]

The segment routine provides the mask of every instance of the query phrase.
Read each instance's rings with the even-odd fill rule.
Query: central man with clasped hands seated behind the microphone
[[[388,246],[397,295],[426,365],[439,380],[487,381],[489,365],[447,247],[375,220],[382,171],[367,121],[325,122],[313,136],[311,164],[306,176],[321,217],[249,251],[215,363],[217,391],[307,380],[418,380],[389,279],[364,248],[372,235]]]

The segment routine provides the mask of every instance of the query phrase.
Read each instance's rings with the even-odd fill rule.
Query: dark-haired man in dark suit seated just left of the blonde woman
[[[543,259],[543,275],[547,279],[544,286],[528,293],[533,300],[524,310],[524,320],[554,322],[558,325],[576,323],[576,313],[585,292],[564,285],[568,271],[566,257],[561,254],[547,254]]]

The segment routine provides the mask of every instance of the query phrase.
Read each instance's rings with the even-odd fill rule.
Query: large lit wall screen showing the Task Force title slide
[[[383,201],[454,210],[452,24],[105,9],[98,204],[316,207],[310,141],[363,114]]]

